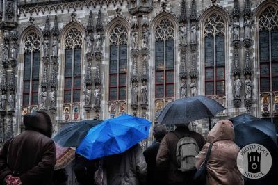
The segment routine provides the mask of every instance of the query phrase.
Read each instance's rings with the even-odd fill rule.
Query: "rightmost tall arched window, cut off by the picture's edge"
[[[260,90],[278,90],[278,13],[273,6],[263,10],[259,18]]]

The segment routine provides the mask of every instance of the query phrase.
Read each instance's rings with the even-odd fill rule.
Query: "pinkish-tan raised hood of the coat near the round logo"
[[[229,120],[220,120],[215,124],[213,129],[208,132],[207,143],[218,140],[234,141],[234,125]]]

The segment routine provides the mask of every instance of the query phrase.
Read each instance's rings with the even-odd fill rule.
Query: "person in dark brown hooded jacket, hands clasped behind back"
[[[52,123],[44,111],[24,115],[26,131],[11,138],[0,151],[0,184],[16,179],[22,185],[52,184],[56,163]]]

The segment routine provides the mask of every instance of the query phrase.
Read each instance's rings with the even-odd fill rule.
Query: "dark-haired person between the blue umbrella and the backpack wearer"
[[[152,135],[155,140],[152,145],[144,151],[145,160],[147,163],[147,184],[167,184],[167,169],[156,168],[156,155],[161,145],[161,140],[167,134],[165,125],[155,124],[152,128]]]

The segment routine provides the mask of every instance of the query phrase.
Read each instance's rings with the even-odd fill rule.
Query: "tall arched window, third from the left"
[[[127,31],[118,23],[110,33],[109,100],[126,99]]]

